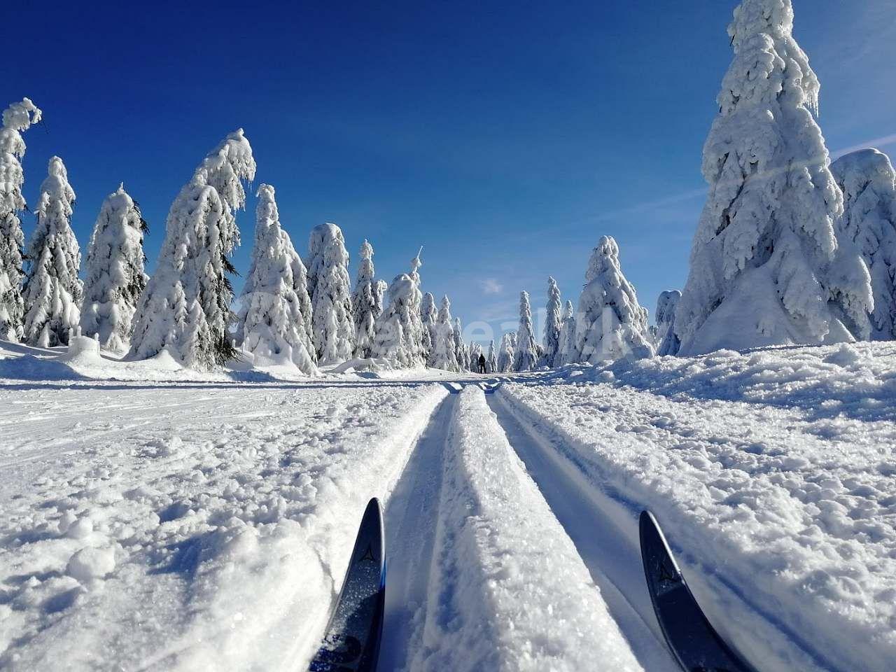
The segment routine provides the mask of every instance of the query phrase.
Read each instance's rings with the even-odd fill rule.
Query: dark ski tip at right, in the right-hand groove
[[[687,587],[650,512],[641,514],[644,575],[669,649],[685,672],[756,672],[719,636]]]

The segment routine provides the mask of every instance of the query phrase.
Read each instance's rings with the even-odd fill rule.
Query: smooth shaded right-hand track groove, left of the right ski
[[[602,495],[518,417],[498,392],[489,395],[513,450],[526,465],[557,521],[573,540],[591,578],[600,587],[610,615],[632,643],[644,669],[679,672],[659,630],[644,583],[637,536],[625,533],[628,514]],[[635,533],[637,526],[635,524]]]

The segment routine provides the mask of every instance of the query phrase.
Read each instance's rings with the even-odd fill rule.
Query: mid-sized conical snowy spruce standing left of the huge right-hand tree
[[[653,357],[647,310],[638,305],[634,288],[619,266],[619,246],[612,237],[600,238],[591,253],[585,289],[576,315],[573,361],[595,364],[626,356]]]

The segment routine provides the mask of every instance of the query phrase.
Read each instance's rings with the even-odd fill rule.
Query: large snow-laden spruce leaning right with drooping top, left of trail
[[[234,211],[246,204],[243,181],[254,175],[252,147],[238,129],[202,159],[177,194],[159,263],[134,314],[130,358],[168,349],[184,366],[208,369],[234,357],[229,255],[239,244]]]

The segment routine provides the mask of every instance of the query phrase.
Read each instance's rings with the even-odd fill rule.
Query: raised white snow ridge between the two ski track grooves
[[[642,670],[478,387],[444,456],[420,670]],[[421,571],[426,571],[421,568]]]

